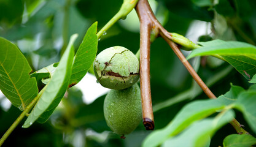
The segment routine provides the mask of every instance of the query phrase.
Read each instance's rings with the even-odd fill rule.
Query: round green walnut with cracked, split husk
[[[125,89],[139,80],[139,60],[127,48],[107,48],[95,58],[97,81],[110,89]]]

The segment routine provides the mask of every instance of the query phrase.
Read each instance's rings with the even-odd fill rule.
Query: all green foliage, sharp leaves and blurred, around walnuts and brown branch
[[[168,43],[152,31],[155,129],[145,130],[141,121],[125,140],[104,119],[106,94],[85,104],[76,86],[87,72],[93,74],[100,51],[139,50],[135,10],[101,37],[96,34],[122,2],[0,1],[1,136],[24,118],[2,146],[255,146],[256,1],[149,1],[167,31],[197,44],[191,51],[187,42],[179,42],[185,37],[174,40],[217,99],[204,94]],[[239,128],[229,124],[234,118]]]

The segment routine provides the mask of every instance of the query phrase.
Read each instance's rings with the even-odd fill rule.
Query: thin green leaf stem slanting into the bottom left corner
[[[45,86],[46,87],[46,86]],[[18,118],[14,121],[12,126],[9,127],[9,129],[6,131],[6,133],[2,136],[0,140],[0,146],[2,146],[2,143],[9,137],[9,135],[12,133],[12,131],[18,126],[18,124],[21,122],[21,120],[29,113],[31,108],[34,107],[37,100],[42,96],[42,93],[44,93],[45,87],[37,94],[37,96],[32,100],[32,102],[25,108],[25,110],[18,116]]]

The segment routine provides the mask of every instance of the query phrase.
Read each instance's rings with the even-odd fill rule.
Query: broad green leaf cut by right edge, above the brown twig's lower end
[[[246,91],[242,92],[238,96],[238,100],[235,103],[235,108],[242,111],[244,118],[246,119],[249,126],[256,133],[256,92]]]

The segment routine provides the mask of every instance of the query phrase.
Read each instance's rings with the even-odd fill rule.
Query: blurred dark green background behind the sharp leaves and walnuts
[[[98,29],[102,28],[121,4],[120,0],[0,0],[0,36],[17,44],[36,71],[58,62],[69,37],[75,33],[79,34],[77,49],[88,27],[98,21]],[[150,4],[168,31],[193,41],[222,39],[256,43],[254,0],[150,0]],[[98,53],[115,45],[133,53],[138,51],[139,21],[134,10],[101,37]],[[188,55],[187,51],[183,53]],[[192,99],[208,99],[198,91],[192,77],[163,39],[152,43],[150,61],[155,129],[165,127]],[[250,86],[246,78],[219,59],[202,57],[190,62],[215,96],[225,94],[230,83],[243,88]],[[189,95],[184,94],[187,91]],[[150,131],[141,123],[121,140],[104,121],[104,97],[84,104],[82,92],[74,86],[47,123],[35,123],[29,129],[21,128],[21,123],[3,146],[141,146]],[[5,108],[4,100],[1,97],[1,136],[21,113],[13,106]],[[236,118],[252,132],[241,114],[237,113]],[[215,134],[211,146],[222,145],[223,138],[233,133],[235,129],[228,124]]]

